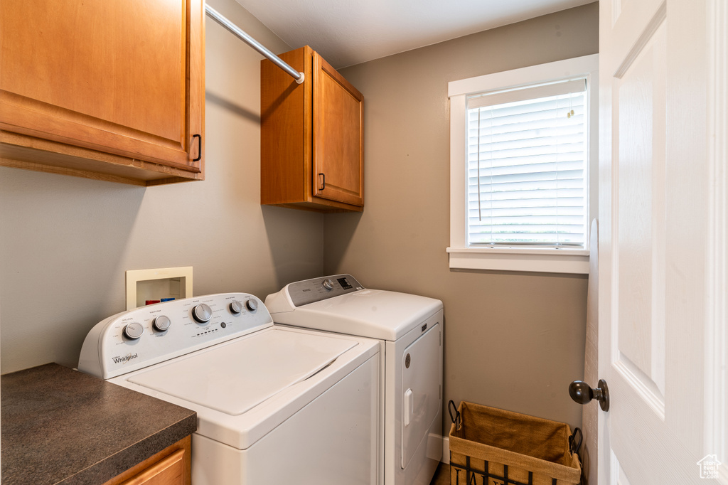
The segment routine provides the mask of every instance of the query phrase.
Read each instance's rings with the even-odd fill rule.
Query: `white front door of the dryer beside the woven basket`
[[[427,438],[440,402],[440,325],[419,336],[402,355],[402,468]]]

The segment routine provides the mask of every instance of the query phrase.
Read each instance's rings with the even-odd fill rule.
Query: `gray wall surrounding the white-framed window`
[[[365,96],[365,210],[325,216],[324,269],[443,300],[446,402],[581,423],[587,278],[448,269],[447,87],[596,52],[593,3],[341,70]]]

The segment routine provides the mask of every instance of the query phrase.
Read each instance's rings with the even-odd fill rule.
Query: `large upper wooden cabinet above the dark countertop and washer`
[[[203,177],[203,0],[0,1],[0,165]]]

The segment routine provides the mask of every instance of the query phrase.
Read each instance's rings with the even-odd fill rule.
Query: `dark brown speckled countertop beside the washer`
[[[103,484],[197,430],[197,413],[58,364],[1,376],[3,485]]]

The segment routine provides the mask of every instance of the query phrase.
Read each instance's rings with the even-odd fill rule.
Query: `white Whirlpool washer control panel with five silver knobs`
[[[273,325],[249,293],[219,293],[139,307],[106,318],[84,340],[79,371],[110,379]]]

